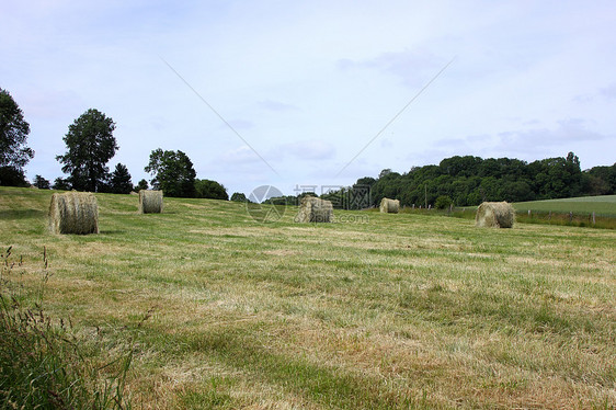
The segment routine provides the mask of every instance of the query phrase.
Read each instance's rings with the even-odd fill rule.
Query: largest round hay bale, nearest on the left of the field
[[[99,203],[90,192],[52,195],[49,228],[53,234],[99,234]]]

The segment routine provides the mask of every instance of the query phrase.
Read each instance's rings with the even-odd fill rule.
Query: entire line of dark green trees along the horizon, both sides
[[[33,185],[39,189],[76,190],[127,194],[147,190],[144,179],[133,185],[126,166],[117,163],[110,172],[107,162],[118,149],[113,136],[115,123],[98,110],[90,109],[69,125],[62,138],[67,151],[56,159],[66,178],[52,184],[36,175]],[[30,125],[11,94],[0,88],[0,185],[30,186],[23,168],[34,157],[26,140]],[[225,186],[216,181],[199,180],[193,162],[181,150],[155,149],[145,171],[152,175],[151,187],[167,196],[229,200]],[[301,193],[267,202],[297,204]],[[322,194],[338,207],[357,209],[378,206],[381,198],[397,198],[402,206],[475,206],[484,201],[525,202],[586,195],[616,194],[616,163],[581,170],[580,160],[567,157],[526,162],[510,158],[482,159],[455,156],[438,166],[412,167],[409,172],[383,170],[377,178],[360,178],[355,184]],[[356,201],[354,201],[356,200]],[[242,193],[231,201],[247,202]]]

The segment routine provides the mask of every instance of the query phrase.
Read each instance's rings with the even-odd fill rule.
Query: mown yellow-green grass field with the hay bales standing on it
[[[53,236],[50,195],[0,187],[2,286],[132,351],[134,408],[616,406],[613,230],[96,194],[100,235]]]

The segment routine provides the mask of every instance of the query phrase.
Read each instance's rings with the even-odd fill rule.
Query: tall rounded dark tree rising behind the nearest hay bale
[[[106,163],[117,150],[113,136],[115,123],[98,110],[81,114],[64,137],[67,152],[56,159],[64,164],[62,172],[77,191],[106,191],[109,168]]]

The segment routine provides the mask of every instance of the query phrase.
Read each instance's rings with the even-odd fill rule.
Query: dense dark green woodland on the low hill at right
[[[452,157],[438,166],[413,167],[403,174],[385,169],[378,179],[362,178],[353,187],[358,185],[369,186],[372,206],[378,206],[384,197],[400,200],[402,206],[436,206],[441,196],[449,197],[456,206],[475,206],[484,201],[525,202],[616,193],[616,164],[582,172],[573,152],[566,158],[531,163],[510,158]],[[342,195],[345,190],[329,195]]]

